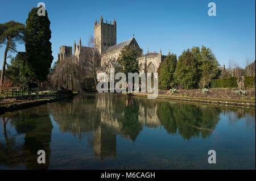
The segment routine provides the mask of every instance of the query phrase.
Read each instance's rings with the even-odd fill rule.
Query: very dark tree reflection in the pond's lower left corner
[[[2,117],[3,121],[5,117]],[[24,134],[24,143],[16,142],[18,137],[5,137],[5,144],[0,143],[0,164],[14,167],[26,165],[26,169],[47,169],[51,150],[52,123],[46,107],[15,112],[10,116],[11,126],[18,134]],[[38,150],[46,151],[46,163],[39,164]]]

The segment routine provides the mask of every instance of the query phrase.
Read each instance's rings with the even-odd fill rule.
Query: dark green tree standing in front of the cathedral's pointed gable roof
[[[122,65],[126,77],[128,73],[135,73],[139,71],[137,58],[139,57],[139,48],[135,46],[125,46],[121,50],[117,62]]]

